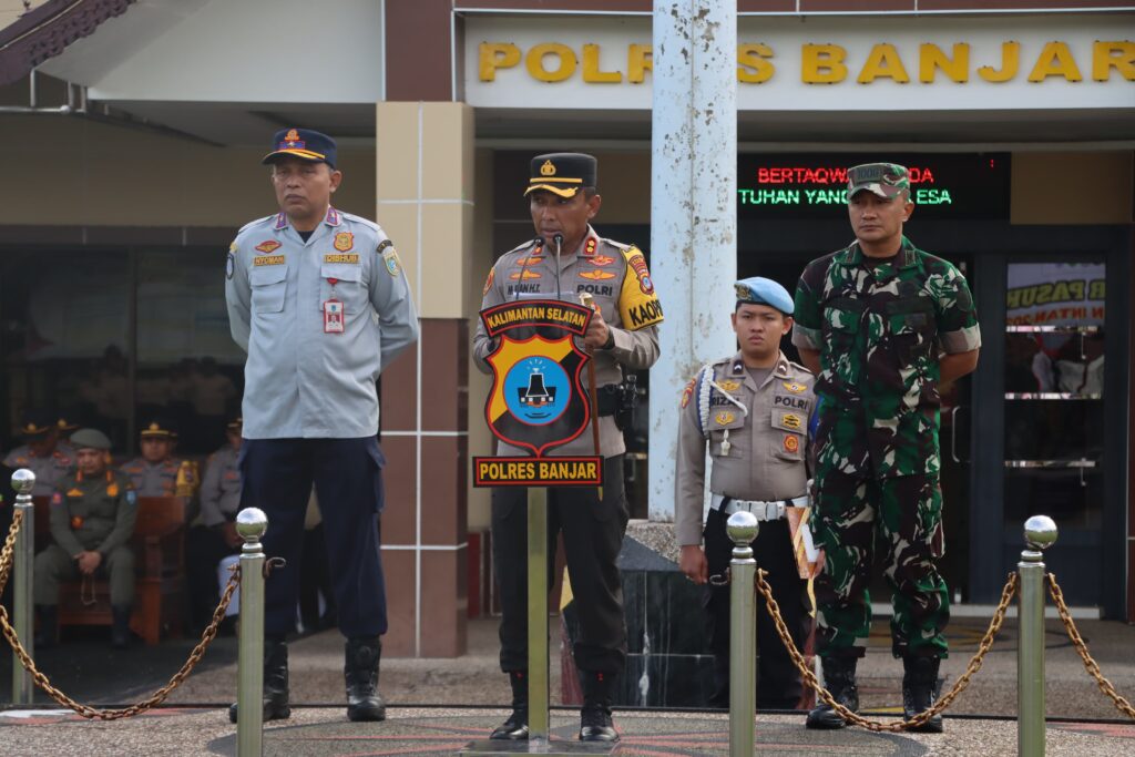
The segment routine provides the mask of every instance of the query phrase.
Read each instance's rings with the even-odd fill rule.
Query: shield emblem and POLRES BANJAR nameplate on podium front
[[[591,421],[582,381],[589,358],[575,344],[590,319],[589,308],[557,300],[519,300],[481,311],[486,333],[497,339],[487,359],[493,389],[485,420],[493,436],[529,454],[474,457],[474,486],[602,485],[600,456],[547,455]]]

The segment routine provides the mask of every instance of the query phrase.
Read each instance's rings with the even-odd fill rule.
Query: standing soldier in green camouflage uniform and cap
[[[943,553],[938,385],[976,367],[981,334],[965,277],[902,235],[914,211],[906,168],[849,169],[848,211],[856,241],[805,269],[792,336],[818,375],[814,527],[826,562],[815,584],[817,650],[827,688],[855,709],[867,586],[874,549],[884,550],[909,718],[933,705],[947,656],[949,595],[935,567]],[[807,724],[846,723],[821,705]],[[941,717],[924,730],[941,731]]]

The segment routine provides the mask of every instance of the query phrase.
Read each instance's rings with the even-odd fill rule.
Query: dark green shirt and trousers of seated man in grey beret
[[[35,556],[35,604],[59,604],[59,584],[79,578],[79,553],[102,555],[98,573],[110,577],[110,604],[126,607],[134,599],[134,521],[137,502],[129,478],[107,470],[86,478],[64,477],[51,497],[51,544]]]

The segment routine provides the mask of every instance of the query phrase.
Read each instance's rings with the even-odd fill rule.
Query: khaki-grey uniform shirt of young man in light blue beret
[[[815,377],[781,353],[757,386],[741,353],[708,367],[714,381],[748,409],[748,414],[705,387],[704,372],[682,393],[674,477],[674,530],[679,546],[701,544],[705,457],[708,428],[713,470],[709,489],[735,499],[776,502],[805,494],[808,473],[808,419],[815,407]],[[703,407],[705,405],[705,407]],[[703,421],[703,417],[705,421]],[[724,446],[729,431],[728,452]]]

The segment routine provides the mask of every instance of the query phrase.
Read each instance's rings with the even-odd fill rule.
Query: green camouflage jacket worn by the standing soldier
[[[797,287],[792,343],[819,352],[817,472],[939,472],[939,355],[981,347],[957,268],[906,237],[881,266],[858,243],[814,260]]]

